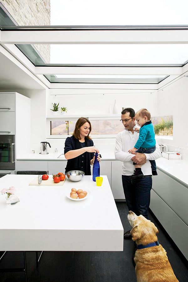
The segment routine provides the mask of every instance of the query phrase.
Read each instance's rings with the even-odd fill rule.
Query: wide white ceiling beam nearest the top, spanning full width
[[[188,44],[188,30],[2,31],[3,44]]]

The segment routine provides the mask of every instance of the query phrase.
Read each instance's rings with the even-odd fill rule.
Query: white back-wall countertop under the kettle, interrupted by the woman
[[[58,154],[17,154],[16,159],[17,160],[66,160],[64,155],[61,155],[63,153]],[[60,158],[58,158],[61,155]],[[115,155],[114,153],[102,153],[102,159],[108,160],[108,159],[114,159]]]

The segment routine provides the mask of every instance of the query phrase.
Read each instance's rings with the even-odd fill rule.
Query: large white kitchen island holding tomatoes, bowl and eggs
[[[66,179],[63,186],[30,186],[35,177],[0,178],[1,190],[14,186],[20,199],[8,205],[0,195],[0,250],[123,251],[123,226],[106,175],[101,187],[86,175],[78,182]],[[68,199],[73,187],[91,195]]]

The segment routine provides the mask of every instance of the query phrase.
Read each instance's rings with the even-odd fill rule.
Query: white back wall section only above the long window
[[[98,94],[101,93],[101,89],[96,89],[96,94],[76,94],[76,95],[56,95],[59,93],[59,89],[53,89],[53,95],[49,94],[47,97],[47,115],[52,115],[50,109],[53,108],[52,103],[60,102],[60,107],[66,107],[68,109],[67,114],[72,115],[88,115],[88,114],[108,114],[109,106],[113,110],[114,102],[116,100],[119,115],[121,116],[122,107],[132,107],[135,111],[146,107],[151,114],[157,115],[157,91],[150,93],[147,91],[124,90],[123,94]],[[118,91],[118,90],[117,90]],[[109,90],[109,92],[111,92]],[[142,92],[142,93],[140,93]],[[146,94],[146,92],[149,92]],[[134,93],[134,94],[130,94]],[[61,115],[59,109],[58,115]]]

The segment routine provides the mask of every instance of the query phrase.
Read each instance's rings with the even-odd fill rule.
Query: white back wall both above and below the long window
[[[115,91],[120,92],[119,90]],[[136,91],[139,93],[135,94]],[[112,90],[109,90],[109,92],[112,92]],[[50,95],[52,93],[53,95]],[[105,115],[108,114],[109,106],[113,111],[115,100],[119,112],[119,119],[121,118],[122,107],[132,107],[135,111],[146,107],[153,116],[157,115],[157,91],[152,90],[151,93],[149,90],[124,90],[122,94],[98,93],[101,93],[101,89],[96,89],[95,94],[59,95],[60,89],[50,89],[46,97],[47,115],[53,114],[50,110],[53,108],[52,103],[59,103],[59,107],[66,107],[68,109],[67,115],[75,114],[80,117],[87,117],[92,114]],[[55,94],[57,95],[55,96]],[[58,116],[61,116],[60,109],[56,117]],[[55,148],[58,149],[58,153],[64,152],[65,139],[49,139],[48,141],[52,147],[51,149],[48,148],[48,152],[53,153]],[[101,154],[106,154],[106,152],[114,153],[115,138],[93,139],[93,141]]]

